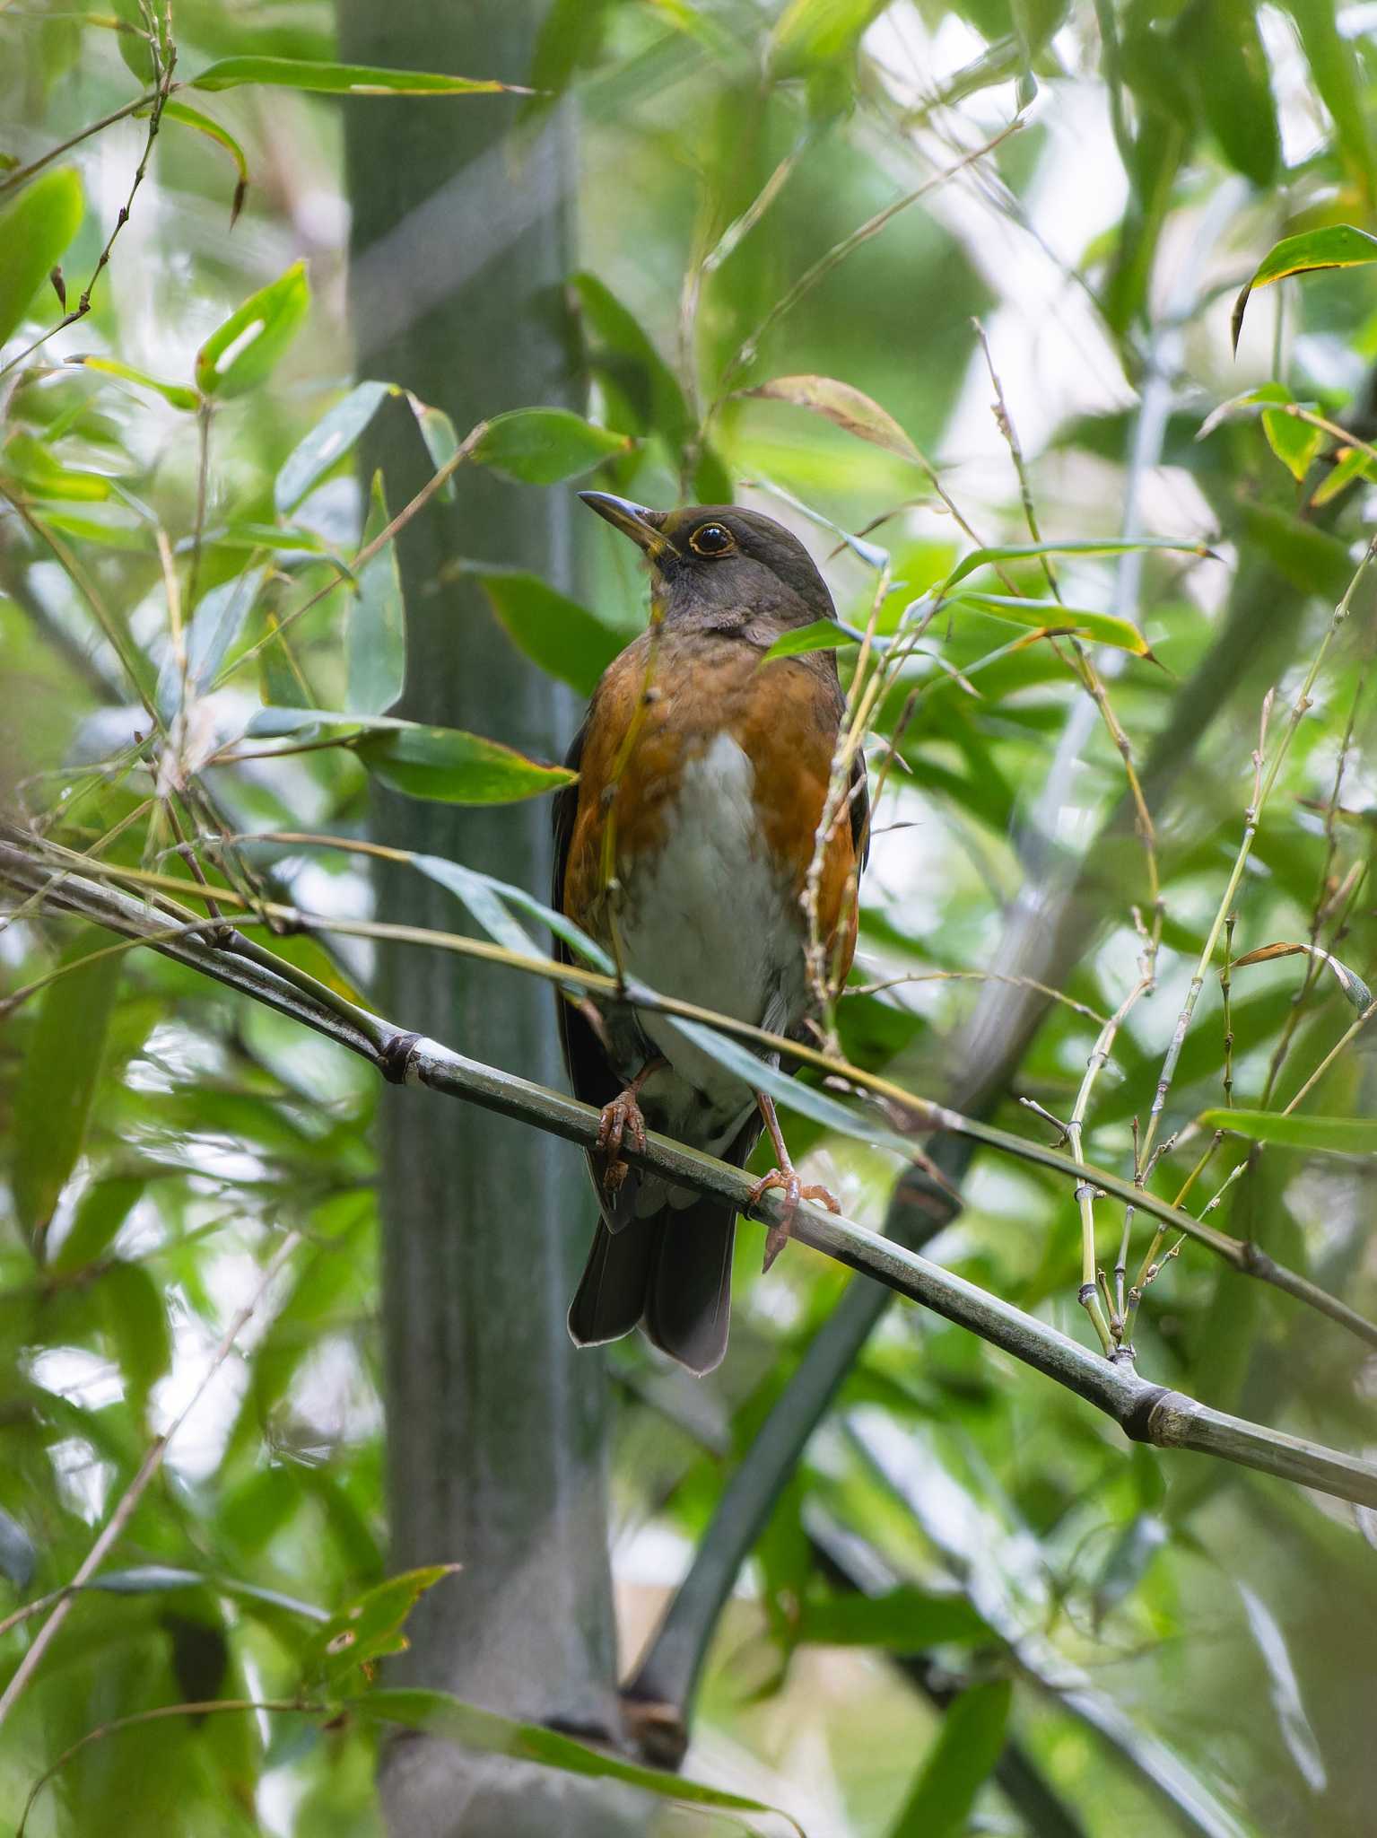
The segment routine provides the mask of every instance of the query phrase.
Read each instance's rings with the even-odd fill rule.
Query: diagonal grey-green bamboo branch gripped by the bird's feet
[[[35,877],[46,875],[48,869],[28,860],[22,849],[0,844],[0,879],[29,888]],[[149,912],[130,895],[101,888],[95,882],[83,884],[77,875],[62,880],[55,891],[55,904],[83,912],[86,917],[125,934],[156,926],[160,919],[156,912]],[[217,950],[191,934],[180,939],[163,937],[154,943],[154,948],[347,1046],[395,1084],[424,1084],[433,1092],[444,1092],[562,1136],[582,1149],[589,1149],[597,1141],[599,1112],[573,1097],[545,1090],[529,1079],[518,1079],[496,1066],[485,1066],[437,1040],[395,1027],[380,1018],[373,1018],[373,1038],[369,1038],[356,1022],[338,1009],[325,1007],[266,965],[235,952]],[[958,1125],[971,1132],[979,1129],[982,1140],[1021,1141],[1006,1138],[1002,1130],[990,1132],[982,1125],[977,1127],[955,1112],[942,1110],[938,1116],[944,1129]],[[1021,1147],[1034,1151],[1036,1160],[1056,1154],[1034,1143],[1021,1143]],[[626,1154],[635,1165],[654,1169],[676,1186],[734,1202],[745,1217],[767,1226],[782,1222],[782,1202],[775,1193],[767,1191],[758,1200],[751,1200],[753,1182],[749,1174],[696,1149],[665,1136],[648,1136],[644,1151],[628,1149]],[[1056,1163],[1061,1162],[1067,1162],[1074,1171],[1074,1162],[1056,1156]],[[1096,1174],[1096,1178],[1100,1176]],[[1103,1180],[1111,1180],[1111,1176],[1103,1176]],[[1138,1204],[1144,1204],[1142,1197],[1138,1197]],[[1164,1202],[1155,1204],[1162,1206]],[[846,1265],[846,1268],[859,1270],[896,1294],[922,1303],[944,1320],[966,1327],[990,1345],[1074,1391],[1113,1417],[1133,1441],[1153,1443],[1159,1448],[1190,1448],[1223,1461],[1236,1461],[1261,1474],[1315,1487],[1340,1500],[1377,1505],[1377,1465],[1210,1410],[1208,1404],[1168,1386],[1149,1384],[999,1296],[988,1294],[975,1283],[968,1283],[850,1219],[802,1204],[793,1219],[791,1235]],[[1329,1312],[1335,1307],[1342,1309],[1340,1303],[1333,1303],[1333,1298],[1326,1298],[1326,1301],[1331,1303]],[[6,1696],[0,1698],[0,1715],[13,1702],[18,1684],[17,1674]]]

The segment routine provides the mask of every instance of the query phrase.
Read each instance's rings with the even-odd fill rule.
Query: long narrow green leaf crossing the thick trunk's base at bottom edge
[[[760,1799],[747,1799],[744,1794],[729,1794],[720,1787],[687,1781],[679,1774],[661,1774],[659,1768],[621,1761],[608,1750],[588,1748],[556,1730],[545,1730],[543,1724],[516,1722],[496,1711],[479,1709],[476,1704],[465,1704],[461,1698],[450,1696],[448,1691],[369,1691],[364,1696],[347,1698],[343,1708],[365,1722],[400,1724],[404,1730],[424,1730],[428,1735],[442,1737],[485,1755],[510,1755],[516,1761],[534,1761],[542,1768],[558,1768],[564,1774],[622,1781],[646,1794],[655,1794],[659,1799],[681,1805],[771,1814],[786,1820],[802,1838],[802,1827],[791,1814],[767,1807]]]

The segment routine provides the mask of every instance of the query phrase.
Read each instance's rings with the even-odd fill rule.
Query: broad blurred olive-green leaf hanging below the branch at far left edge
[[[15,1217],[33,1246],[42,1242],[86,1140],[125,959],[114,954],[83,965],[83,958],[108,943],[108,932],[90,926],[62,952],[64,974],[39,996],[39,1016],[18,1068],[13,1195]]]

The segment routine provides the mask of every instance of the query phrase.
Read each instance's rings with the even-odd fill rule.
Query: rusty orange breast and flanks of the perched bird
[[[599,684],[578,777],[564,910],[608,937],[608,888],[672,844],[685,766],[727,732],[755,768],[760,831],[795,899],[804,893],[832,772],[843,698],[815,665],[723,634],[661,629],[630,645]],[[843,805],[823,857],[819,934],[845,978],[856,950],[856,849]],[[802,912],[800,912],[802,925]]]

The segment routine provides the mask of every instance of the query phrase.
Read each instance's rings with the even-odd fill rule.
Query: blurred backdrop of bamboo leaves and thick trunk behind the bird
[[[1045,610],[946,608],[878,702],[883,792],[837,1026],[854,1062],[1054,1141],[1019,1099],[1067,1118],[1160,928],[1155,993],[1085,1123],[1087,1158],[1129,1176],[1243,840],[1263,697],[1278,686],[1274,750],[1371,531],[1371,460],[1340,434],[1377,437],[1373,270],[1259,289],[1237,355],[1230,311],[1280,237],[1377,230],[1375,20],[1329,0],[0,0],[7,823],[178,884],[195,857],[226,890],[319,915],[264,936],[299,970],[558,1083],[543,985],[367,936],[474,934],[452,888],[310,838],[545,897],[534,787],[476,807],[448,754],[408,765],[367,722],[393,709],[562,757],[644,619],[637,559],[582,528],[575,474],[778,516],[841,618],[865,627],[881,594],[890,636],[958,557],[1041,535],[1070,550],[1052,581],[1034,559],[982,579]],[[347,64],[525,92],[389,96]],[[90,312],[48,336],[92,278]],[[859,437],[835,391],[800,386],[819,377],[868,399]],[[613,437],[571,436],[545,472],[461,471],[354,596],[349,559],[455,439],[527,406]],[[1087,550],[1122,535],[1177,548]],[[1030,638],[1074,623],[1054,594],[1140,627],[1151,656],[1124,627],[1087,640],[1089,669]],[[1318,943],[1371,974],[1371,649],[1364,584],[1237,888],[1234,958]],[[286,719],[264,726],[264,704]],[[360,732],[382,741],[329,744]],[[106,1586],[75,1599],[0,1730],[11,1820],[86,1731],[290,1700],[319,1682],[329,1616],[457,1562],[387,1680],[599,1735],[632,1676],[674,1711],[668,1744],[652,1719],[632,1748],[665,1761],[687,1737],[685,1777],[810,1838],[1371,1831],[1368,1509],[1129,1447],[799,1246],[762,1279],[753,1228],[709,1380],[639,1342],[575,1355],[562,1310],[591,1200],[571,1147],[409,1090],[384,1101],[362,1061],[152,952],[72,970],[108,934],[18,897],[2,925],[4,1614],[72,1577],[281,1259]],[[1212,1134],[1192,1119],[1230,1086],[1282,1108],[1362,1013],[1305,956],[1239,969],[1230,1000],[1226,1031],[1212,970],[1153,1180],[1195,1211],[1247,1143],[1201,1171]],[[1302,1108],[1370,1118],[1373,1038]],[[850,1217],[911,1228],[894,1158],[788,1127]],[[929,1219],[927,1254],[1094,1344],[1070,1184],[988,1152],[953,1174],[964,1209]],[[1371,1312],[1371,1156],[1274,1143],[1210,1217]],[[1107,1270],[1120,1230],[1103,1206]],[[1129,1270],[1149,1237],[1135,1220]],[[1155,1382],[1377,1452],[1370,1351],[1197,1244],[1133,1338]],[[720,1511],[733,1476],[758,1480],[745,1533]],[[736,1571],[722,1553],[742,1544]],[[37,1625],[6,1623],[6,1680]],[[529,1776],[518,1818],[501,1770],[477,1779],[448,1750],[430,1774],[393,1757],[380,1798],[380,1748],[367,1717],[141,1722],[66,1759],[26,1829],[744,1823],[630,1790],[545,1803]]]

